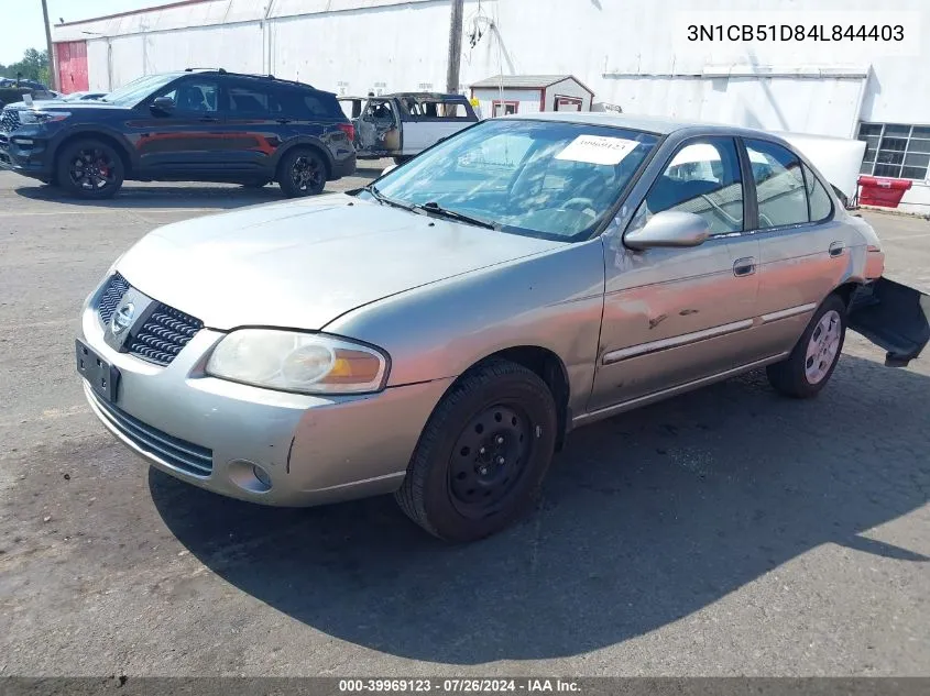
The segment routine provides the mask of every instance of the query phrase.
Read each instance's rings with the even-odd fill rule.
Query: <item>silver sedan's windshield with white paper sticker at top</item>
[[[605,125],[491,119],[375,186],[396,203],[572,241],[590,235],[610,213],[656,142],[650,133]]]

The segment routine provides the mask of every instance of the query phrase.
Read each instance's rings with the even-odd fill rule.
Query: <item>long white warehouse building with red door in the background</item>
[[[66,89],[225,67],[340,93],[441,90],[450,4],[182,0],[59,24],[53,40]],[[571,75],[593,101],[624,113],[862,134],[863,172],[912,179],[902,208],[930,213],[930,5],[877,8],[874,0],[466,0],[460,91],[494,75]],[[803,40],[781,41],[799,23]],[[766,36],[746,43],[744,25]],[[839,40],[822,41],[835,37],[834,26]],[[850,26],[853,37],[843,38]],[[861,26],[864,38],[855,35]]]

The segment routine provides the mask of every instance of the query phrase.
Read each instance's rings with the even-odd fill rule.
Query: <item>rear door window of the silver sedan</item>
[[[801,161],[789,150],[766,141],[747,140],[761,230],[810,221]]]

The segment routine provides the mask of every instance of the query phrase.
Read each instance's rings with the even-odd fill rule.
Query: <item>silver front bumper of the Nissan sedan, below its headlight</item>
[[[285,394],[206,376],[207,355],[221,332],[201,329],[161,367],[112,350],[103,331],[95,302],[86,303],[80,339],[120,371],[112,406],[85,382],[88,402],[107,429],[172,476],[266,505],[311,506],[395,490],[451,383],[351,397]],[[251,473],[252,464],[266,472],[270,488]]]

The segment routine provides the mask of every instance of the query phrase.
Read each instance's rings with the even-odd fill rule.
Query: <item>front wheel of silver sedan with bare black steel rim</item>
[[[439,539],[490,537],[535,500],[557,423],[552,394],[535,373],[489,362],[436,407],[394,496],[407,517]]]

